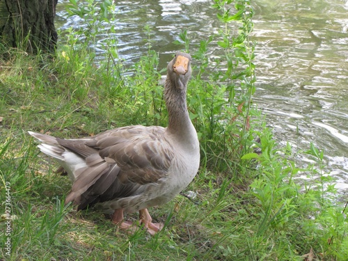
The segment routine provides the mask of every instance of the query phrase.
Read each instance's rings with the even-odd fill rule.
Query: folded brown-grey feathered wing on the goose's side
[[[145,185],[168,175],[174,157],[165,128],[141,125],[121,127],[90,139],[57,139],[59,145],[85,158],[77,170],[66,202],[79,209],[144,191]]]

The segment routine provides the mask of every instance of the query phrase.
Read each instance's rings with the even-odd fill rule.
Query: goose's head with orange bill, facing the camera
[[[174,83],[179,90],[186,89],[191,77],[191,56],[183,52],[177,52],[173,60],[168,63],[167,77]]]

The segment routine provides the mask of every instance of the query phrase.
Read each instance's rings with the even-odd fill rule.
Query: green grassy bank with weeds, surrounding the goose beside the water
[[[239,24],[239,35],[222,26],[190,50],[195,67],[188,106],[202,158],[183,194],[197,196],[179,195],[152,208],[153,219],[166,223],[153,237],[144,230],[127,235],[103,214],[65,206],[70,180],[54,173],[58,164],[27,134],[74,138],[124,125],[166,126],[158,84],[164,72],[150,38],[148,54],[130,76],[114,42],[95,64],[93,51],[75,37],[84,31],[62,32],[53,60],[1,49],[8,59],[0,61],[0,259],[347,260],[347,210],[325,171],[323,152],[314,145],[303,152],[280,147],[264,127],[252,102],[253,13],[247,1],[235,11],[224,2],[216,1],[216,13],[222,25]],[[95,35],[84,36],[93,41]],[[178,49],[189,48],[189,35],[183,31],[180,38]],[[226,60],[212,66],[209,45],[219,46]],[[312,166],[296,164],[301,153],[312,157]],[[308,177],[301,186],[299,174]]]

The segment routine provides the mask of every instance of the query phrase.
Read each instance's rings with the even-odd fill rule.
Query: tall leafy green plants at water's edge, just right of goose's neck
[[[232,8],[227,7],[231,3],[235,3],[235,15]],[[188,90],[189,105],[191,119],[201,137],[204,165],[235,176],[242,167],[239,155],[248,151],[253,143],[251,116],[259,116],[255,109],[251,110],[251,96],[255,92],[254,44],[249,38],[253,9],[249,1],[215,1],[213,8],[222,11],[217,16],[224,29],[214,37],[201,40],[193,54],[200,63]],[[240,24],[237,36],[230,30],[230,22]],[[187,31],[179,36],[188,49]],[[207,49],[213,39],[223,51],[221,60],[214,61],[215,68],[209,66],[207,59]],[[221,63],[222,59],[227,64]],[[227,70],[221,73],[224,67]]]

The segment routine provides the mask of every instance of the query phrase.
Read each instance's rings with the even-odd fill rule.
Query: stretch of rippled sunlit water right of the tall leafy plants
[[[271,1],[272,3],[275,1]],[[258,1],[260,104],[279,140],[324,148],[348,188],[348,1]],[[267,15],[274,10],[272,15]],[[304,159],[306,161],[306,159]]]

